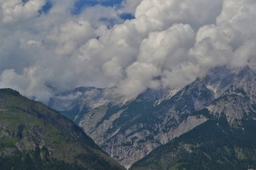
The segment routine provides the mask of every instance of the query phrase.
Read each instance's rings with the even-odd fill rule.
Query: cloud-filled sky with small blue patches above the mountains
[[[256,62],[255,0],[1,0],[0,88],[129,98]]]

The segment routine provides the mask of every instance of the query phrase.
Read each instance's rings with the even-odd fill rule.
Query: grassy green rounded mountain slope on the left
[[[0,169],[124,169],[42,103],[0,89]]]

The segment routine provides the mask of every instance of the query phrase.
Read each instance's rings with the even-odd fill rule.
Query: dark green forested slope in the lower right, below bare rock
[[[205,114],[207,110],[205,110]],[[163,145],[131,170],[141,169],[247,169],[256,166],[256,121],[242,120],[230,128],[225,115],[210,118],[190,132]]]

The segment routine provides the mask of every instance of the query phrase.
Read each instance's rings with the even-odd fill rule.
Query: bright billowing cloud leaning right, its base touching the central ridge
[[[124,88],[122,92],[136,96],[147,88],[161,87],[162,80],[167,78],[166,74],[177,64],[187,60],[188,50],[193,47],[193,42],[193,29],[181,23],[164,31],[149,33],[139,47],[137,62],[126,69],[127,78],[120,86],[121,89]]]

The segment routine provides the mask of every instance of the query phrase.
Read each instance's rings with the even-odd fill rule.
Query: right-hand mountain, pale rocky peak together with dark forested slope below
[[[206,116],[206,123],[155,149],[131,169],[247,169],[256,166],[255,77],[249,67],[240,69],[232,77],[230,86],[223,88],[222,95],[202,111],[193,113]]]

